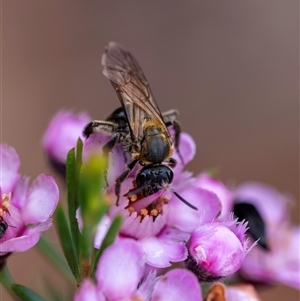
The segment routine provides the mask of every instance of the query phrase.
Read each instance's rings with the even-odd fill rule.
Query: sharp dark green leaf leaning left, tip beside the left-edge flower
[[[58,233],[58,237],[60,240],[61,247],[63,249],[63,253],[67,259],[67,262],[69,264],[69,267],[75,279],[78,281],[79,280],[78,255],[76,253],[76,249],[69,231],[68,223],[63,208],[61,206],[57,207],[55,218],[56,218],[56,231]]]

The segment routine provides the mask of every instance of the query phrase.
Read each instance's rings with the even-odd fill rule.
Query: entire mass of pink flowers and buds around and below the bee
[[[84,140],[83,163],[102,153],[110,137],[97,133],[85,139],[82,131],[89,121],[85,113],[61,111],[49,124],[43,149],[60,173],[65,173],[67,153],[79,137]],[[172,183],[147,197],[139,193],[128,196],[136,188],[136,174],[142,168],[137,164],[122,182],[118,206],[115,183],[128,162],[120,145],[109,153],[108,185],[103,193],[113,204],[97,225],[94,247],[100,248],[117,215],[123,222],[114,243],[100,257],[95,279],[84,279],[74,300],[201,301],[210,300],[210,294],[227,301],[259,300],[250,286],[220,283],[203,298],[202,283],[224,281],[236,273],[245,281],[284,283],[300,289],[300,228],[290,224],[288,196],[254,182],[228,188],[209,172],[194,176],[185,170],[196,152],[187,133],[180,135],[179,152],[173,154],[178,163]],[[41,232],[51,226],[59,191],[46,174],[29,185],[29,179],[18,172],[16,151],[5,144],[0,145],[0,160],[1,259],[38,242]],[[247,211],[245,219],[235,210],[239,205],[246,211],[253,208],[255,214]],[[80,208],[76,218],[81,229]],[[163,268],[173,263],[177,268],[164,272]]]

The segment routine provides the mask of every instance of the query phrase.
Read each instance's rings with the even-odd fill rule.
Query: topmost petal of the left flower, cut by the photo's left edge
[[[0,144],[0,187],[2,193],[12,192],[19,178],[20,159],[14,148]]]

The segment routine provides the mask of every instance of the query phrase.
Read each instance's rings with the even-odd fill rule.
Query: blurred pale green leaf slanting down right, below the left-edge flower
[[[53,244],[49,243],[44,236],[41,236],[39,242],[37,243],[37,247],[40,249],[43,255],[45,255],[56,266],[56,268],[65,276],[65,278],[71,284],[74,284],[74,277],[72,276],[67,262],[59,253],[59,251],[54,248]]]

